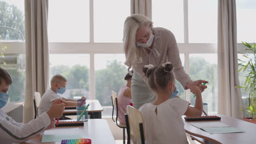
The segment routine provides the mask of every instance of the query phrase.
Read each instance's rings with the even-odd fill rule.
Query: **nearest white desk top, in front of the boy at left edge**
[[[83,126],[79,127],[56,127],[54,129],[63,129],[67,131],[67,133],[72,133],[73,128],[79,128],[79,130],[83,130],[83,138],[91,139],[91,142],[94,144],[114,144],[115,140],[108,126],[108,122],[106,119],[88,119],[88,122],[84,123]],[[32,139],[24,142],[24,143],[41,143],[43,133],[32,137]],[[46,143],[60,143],[60,142],[45,142]]]

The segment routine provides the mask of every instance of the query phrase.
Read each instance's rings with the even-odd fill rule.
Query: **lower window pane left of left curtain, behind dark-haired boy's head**
[[[5,63],[5,64],[4,64]],[[9,87],[9,101],[24,101],[26,89],[26,56],[24,54],[5,54],[1,57],[0,65],[11,76]]]

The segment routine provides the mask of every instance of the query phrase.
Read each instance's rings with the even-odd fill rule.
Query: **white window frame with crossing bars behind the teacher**
[[[95,54],[124,53],[122,43],[95,43],[94,41],[94,1],[90,0],[90,41],[89,43],[49,43],[50,54],[89,54],[90,55],[90,97],[95,99]],[[193,53],[217,53],[217,44],[189,43],[188,0],[184,0],[184,43],[178,43],[179,53],[184,53],[184,69],[189,74],[189,55]],[[8,49],[5,53],[26,53],[25,42],[4,41]],[[104,47],[104,49],[102,49]],[[237,44],[238,52],[244,52],[242,44]],[[107,51],[106,51],[107,50]],[[186,91],[185,95],[189,95]],[[189,97],[185,97],[190,101]]]

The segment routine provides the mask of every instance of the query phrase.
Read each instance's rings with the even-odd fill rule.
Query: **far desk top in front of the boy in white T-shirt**
[[[86,100],[86,105],[90,104],[88,107],[88,112],[101,112],[103,108],[98,100]],[[66,109],[64,113],[76,113],[77,109]]]

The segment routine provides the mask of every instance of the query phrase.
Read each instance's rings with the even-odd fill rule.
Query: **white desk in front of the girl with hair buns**
[[[186,133],[192,135],[191,137],[200,143],[256,143],[256,124],[242,121],[240,119],[227,117],[224,115],[217,115],[221,117],[220,121],[231,127],[245,131],[245,133],[229,133],[229,134],[210,134],[199,128],[190,125],[189,122],[184,121],[184,128]]]

